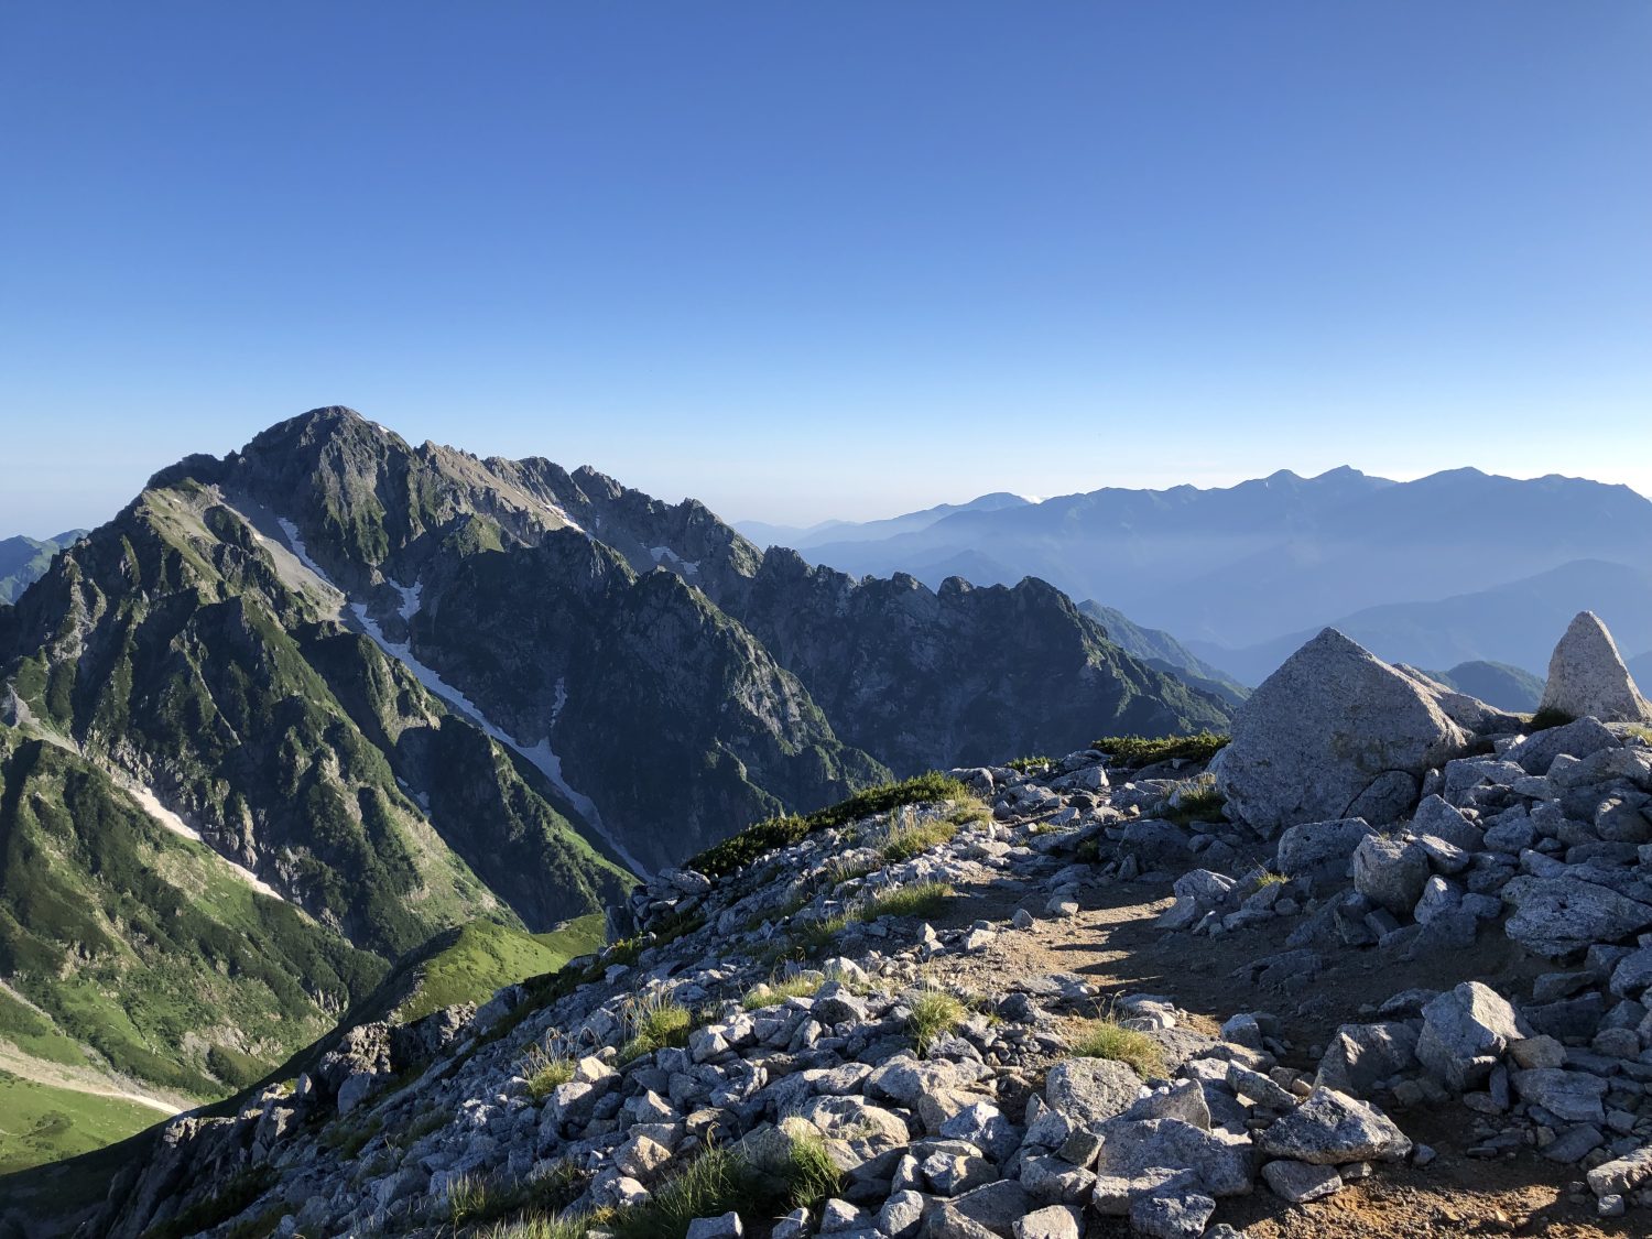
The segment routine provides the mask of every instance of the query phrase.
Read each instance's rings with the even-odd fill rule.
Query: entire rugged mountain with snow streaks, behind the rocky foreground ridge
[[[316,410],[165,469],[0,605],[0,971],[97,1066],[221,1092],[439,932],[552,930],[894,775],[1226,720],[1041,582],[856,580],[694,501]],[[218,930],[162,933],[162,887],[281,945],[248,971]],[[131,952],[198,996],[131,1032],[164,1061],[43,980]]]

